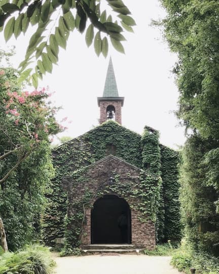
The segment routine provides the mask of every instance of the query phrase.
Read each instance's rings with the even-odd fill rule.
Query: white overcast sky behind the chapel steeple
[[[104,4],[104,0],[101,1]],[[67,49],[60,50],[58,65],[47,74],[40,86],[55,91],[52,98],[62,106],[58,119],[68,117],[68,129],[60,135],[72,138],[98,125],[97,96],[102,96],[109,55],[112,56],[120,96],[125,97],[122,125],[142,133],[144,125],[160,131],[160,142],[177,148],[184,144],[184,128],[172,111],[177,109],[178,92],[171,70],[177,61],[163,41],[159,29],[150,26],[151,20],[163,18],[164,10],[158,0],[124,0],[137,26],[134,33],[125,32],[125,55],[109,47],[108,57],[97,57],[93,45],[88,49],[85,33],[70,33]],[[101,5],[102,5],[101,4]],[[33,32],[33,29],[30,29]],[[27,39],[11,39],[7,44],[0,35],[1,47],[16,46],[13,64],[23,60]]]

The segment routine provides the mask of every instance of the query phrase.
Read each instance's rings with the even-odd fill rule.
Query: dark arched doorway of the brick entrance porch
[[[131,244],[129,204],[116,195],[104,195],[91,212],[91,244]]]

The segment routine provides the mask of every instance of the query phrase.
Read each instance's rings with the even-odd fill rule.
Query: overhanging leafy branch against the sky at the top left
[[[108,52],[108,37],[116,50],[124,53],[120,41],[125,38],[123,28],[133,31],[135,21],[129,16],[131,12],[122,0],[106,0],[113,13],[118,14],[119,23],[113,22],[112,16],[106,16],[106,11],[100,11],[98,0],[9,0],[0,4],[0,31],[4,31],[5,40],[13,35],[17,38],[25,33],[30,25],[36,25],[36,30],[30,38],[25,60],[20,64],[20,71],[26,78],[31,78],[34,87],[38,86],[38,78],[52,72],[53,64],[57,64],[59,48],[65,49],[70,31],[76,28],[83,33],[87,23],[86,43],[92,43],[96,54],[104,57]],[[117,19],[118,19],[117,18]],[[9,19],[9,20],[8,20]],[[94,38],[94,28],[97,30]],[[49,29],[49,31],[48,31]],[[104,33],[104,37],[103,36]],[[35,58],[35,71],[32,67],[25,71],[32,58]],[[30,75],[31,74],[31,75]],[[21,75],[21,77],[22,77]]]

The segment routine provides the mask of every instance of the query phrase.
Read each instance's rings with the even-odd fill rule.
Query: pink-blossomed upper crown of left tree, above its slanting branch
[[[45,88],[21,91],[13,68],[0,69],[0,184],[42,142],[63,130],[55,119],[58,108],[51,107]],[[10,158],[17,159],[16,162]],[[14,163],[13,165],[11,163]]]

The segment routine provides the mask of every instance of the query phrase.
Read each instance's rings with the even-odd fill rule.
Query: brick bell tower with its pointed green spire
[[[100,107],[100,124],[109,119],[122,124],[122,107],[124,97],[119,97],[111,57],[109,59],[103,96],[97,97],[97,102]]]

